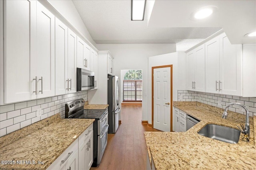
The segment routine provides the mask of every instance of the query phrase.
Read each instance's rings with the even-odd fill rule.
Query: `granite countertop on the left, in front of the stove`
[[[14,142],[1,143],[0,160],[34,160],[44,164],[0,164],[1,170],[45,170],[81,135],[95,119],[57,119]],[[30,125],[30,126],[33,126]],[[22,133],[24,129],[18,130]],[[8,135],[13,135],[12,133]],[[2,141],[6,138],[4,136]],[[15,135],[15,134],[14,134]],[[16,134],[17,135],[17,134]],[[0,139],[1,139],[0,138]],[[15,138],[14,136],[11,138]]]

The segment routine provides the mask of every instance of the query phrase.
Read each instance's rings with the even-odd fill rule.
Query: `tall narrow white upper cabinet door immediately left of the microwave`
[[[68,29],[68,80],[69,93],[76,92],[76,34]]]

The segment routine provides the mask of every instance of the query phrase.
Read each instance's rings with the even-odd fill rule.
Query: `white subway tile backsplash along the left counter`
[[[192,100],[196,101],[197,93],[191,93],[186,90],[182,90],[182,93],[189,93],[190,96],[192,94]],[[87,91],[0,106],[0,136],[46,119],[54,114],[60,113],[64,118],[65,103],[78,98],[87,100]],[[42,108],[42,115],[36,117],[38,108]]]

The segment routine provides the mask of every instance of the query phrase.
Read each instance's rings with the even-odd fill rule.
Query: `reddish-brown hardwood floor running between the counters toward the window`
[[[146,169],[147,147],[144,131],[158,131],[141,124],[142,106],[122,106],[121,119],[115,134],[108,134],[108,145],[100,166],[90,170]]]

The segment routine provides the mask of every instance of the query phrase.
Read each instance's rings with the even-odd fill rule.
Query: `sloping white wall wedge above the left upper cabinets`
[[[62,16],[66,18],[84,37],[86,37],[92,45],[96,47],[96,43],[92,39],[88,29],[84,25],[82,18],[78,14],[76,7],[74,6],[72,0],[48,0]]]

